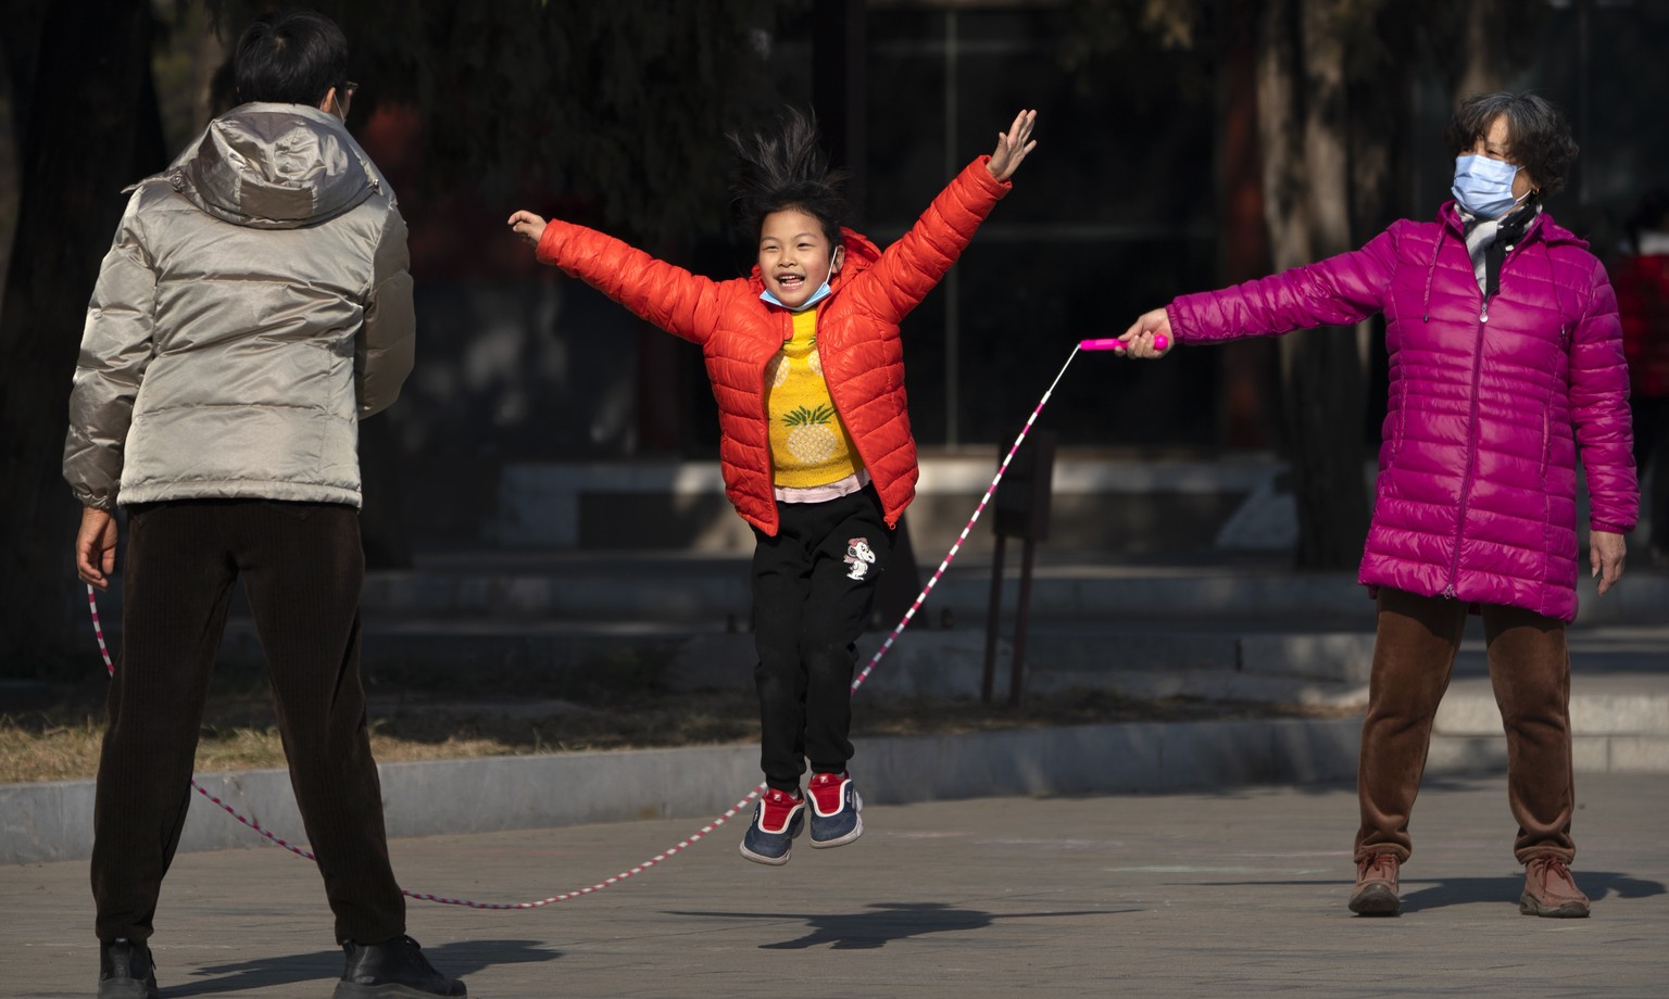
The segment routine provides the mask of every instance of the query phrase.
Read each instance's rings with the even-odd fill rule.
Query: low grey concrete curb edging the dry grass
[[[855,762],[863,796],[875,804],[1307,784],[1354,776],[1359,732],[1359,719],[1011,729],[861,739]],[[758,747],[746,744],[384,764],[386,822],[391,837],[406,837],[706,821],[758,786]],[[212,774],[199,784],[277,836],[304,836],[284,771]],[[92,814],[92,781],[0,786],[0,862],[90,856]],[[180,851],[262,842],[192,794]]]

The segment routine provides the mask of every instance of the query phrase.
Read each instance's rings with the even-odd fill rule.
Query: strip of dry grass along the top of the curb
[[[589,669],[421,670],[367,680],[371,745],[382,762],[527,756],[759,739],[753,690],[668,690],[664,662],[611,655]],[[103,677],[53,690],[48,707],[0,715],[0,784],[78,781],[98,772]],[[853,735],[990,732],[1046,725],[1340,715],[1325,709],[1138,700],[1105,690],[1031,695],[1020,707],[935,697],[853,699]],[[217,670],[197,744],[197,771],[284,767],[265,675]]]

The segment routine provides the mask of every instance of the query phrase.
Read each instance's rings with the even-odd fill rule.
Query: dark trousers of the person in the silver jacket
[[[267,654],[290,784],[335,939],[406,932],[359,677],[359,512],[337,504],[132,507],[122,655],[93,806],[98,939],[149,939],[190,806],[209,674],[242,574]]]

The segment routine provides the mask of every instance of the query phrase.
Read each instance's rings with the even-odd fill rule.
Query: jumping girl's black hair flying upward
[[[758,240],[766,215],[798,208],[823,225],[831,250],[841,245],[846,175],[828,168],[816,118],[789,107],[771,125],[746,135],[731,132],[726,138],[736,153],[731,207],[743,238]]]

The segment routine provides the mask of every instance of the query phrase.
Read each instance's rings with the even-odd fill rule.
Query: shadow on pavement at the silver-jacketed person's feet
[[[502,964],[532,964],[539,961],[556,961],[561,951],[551,951],[539,941],[461,941],[422,949],[429,964],[447,977],[467,979],[486,967]],[[287,954],[284,957],[265,957],[260,961],[240,961],[237,964],[210,964],[192,969],[194,979],[215,976],[210,981],[174,982],[170,986],[170,962],[165,954],[159,954],[157,984],[167,999],[184,996],[227,996],[247,989],[270,989],[274,986],[295,986],[302,982],[327,984],[342,977],[342,952],[319,951],[314,954]],[[466,981],[467,984],[467,981]]]

